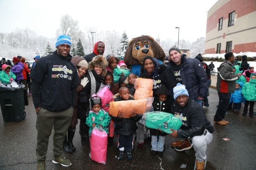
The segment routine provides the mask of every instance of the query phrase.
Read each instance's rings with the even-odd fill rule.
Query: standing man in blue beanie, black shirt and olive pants
[[[37,61],[30,74],[33,103],[36,108],[37,129],[37,170],[45,169],[45,159],[49,137],[54,128],[53,159],[54,164],[70,166],[71,161],[61,157],[63,141],[67,134],[74,107],[76,88],[80,84],[76,66],[71,63],[69,54],[72,46],[67,35],[60,35],[52,55]]]

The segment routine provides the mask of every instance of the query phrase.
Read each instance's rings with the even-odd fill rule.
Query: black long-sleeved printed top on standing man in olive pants
[[[37,61],[30,74],[32,98],[35,108],[43,107],[51,112],[61,112],[76,105],[76,87],[80,84],[77,69],[71,63],[71,55],[52,55]]]

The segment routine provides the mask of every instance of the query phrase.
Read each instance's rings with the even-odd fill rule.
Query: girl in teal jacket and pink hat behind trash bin
[[[12,80],[16,79],[16,75],[12,73],[11,66],[3,64],[2,71],[0,72],[0,81],[2,83],[11,84]]]

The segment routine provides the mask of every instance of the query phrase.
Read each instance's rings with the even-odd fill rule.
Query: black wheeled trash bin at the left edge
[[[0,105],[4,122],[20,122],[26,118],[24,85],[18,88],[0,87]]]

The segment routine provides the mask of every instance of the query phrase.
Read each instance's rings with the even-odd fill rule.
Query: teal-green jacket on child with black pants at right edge
[[[251,74],[256,76],[255,73]],[[244,95],[245,100],[256,101],[256,79],[251,79],[248,83],[245,83],[242,88],[242,94]]]

